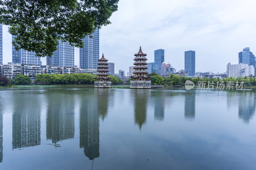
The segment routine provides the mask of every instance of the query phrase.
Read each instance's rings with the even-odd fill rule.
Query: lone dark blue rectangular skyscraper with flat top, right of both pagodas
[[[185,71],[188,72],[188,76],[195,76],[196,51],[185,51]]]

